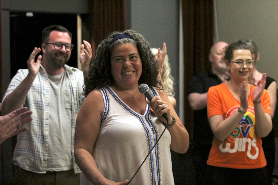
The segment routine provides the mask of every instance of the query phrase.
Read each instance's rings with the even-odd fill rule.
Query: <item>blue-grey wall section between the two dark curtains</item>
[[[177,99],[176,112],[180,102],[179,75],[179,1],[178,0],[131,0],[131,29],[145,36],[151,47],[167,46],[171,74],[175,79],[174,89]]]

